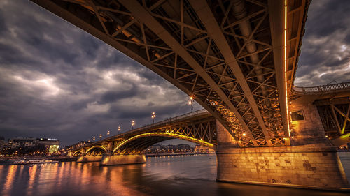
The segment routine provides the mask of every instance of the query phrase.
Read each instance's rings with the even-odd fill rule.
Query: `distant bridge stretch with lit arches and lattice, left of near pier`
[[[216,120],[209,112],[199,110],[74,149],[72,156],[142,154],[147,147],[171,139],[188,140],[215,149]]]

